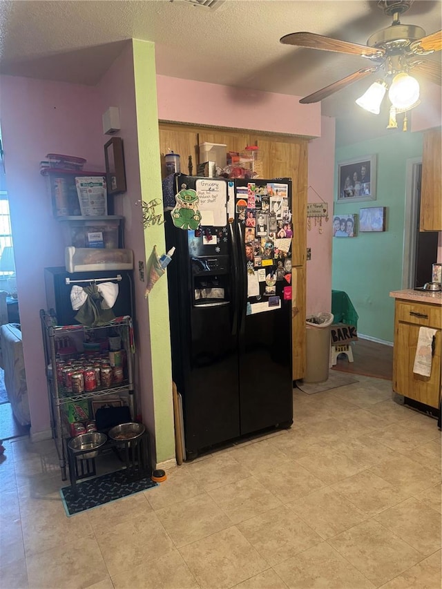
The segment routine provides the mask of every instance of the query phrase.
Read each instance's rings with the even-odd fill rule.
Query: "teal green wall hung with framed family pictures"
[[[389,293],[402,287],[405,175],[407,160],[422,155],[422,133],[394,135],[336,148],[334,213],[356,213],[368,206],[386,206],[383,233],[359,233],[333,238],[332,289],[345,291],[358,312],[358,333],[392,342],[394,300]],[[338,163],[376,154],[376,200],[338,203]],[[331,219],[332,221],[332,219]]]

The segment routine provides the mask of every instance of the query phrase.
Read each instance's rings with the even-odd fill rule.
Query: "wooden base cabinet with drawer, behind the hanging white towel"
[[[397,300],[394,310],[393,390],[410,399],[439,407],[441,391],[442,307]],[[436,329],[431,375],[414,374],[420,327]]]

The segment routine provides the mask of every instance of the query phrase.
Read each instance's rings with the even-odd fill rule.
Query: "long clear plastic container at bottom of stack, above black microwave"
[[[65,263],[68,272],[132,270],[131,249],[94,249],[66,247]]]

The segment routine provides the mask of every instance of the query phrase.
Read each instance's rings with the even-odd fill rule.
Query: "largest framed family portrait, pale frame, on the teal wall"
[[[338,202],[376,200],[376,155],[338,164]]]

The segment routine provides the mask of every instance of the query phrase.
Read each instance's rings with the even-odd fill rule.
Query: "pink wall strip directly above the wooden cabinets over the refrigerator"
[[[258,90],[157,75],[158,117],[255,131],[320,135],[320,103]]]

